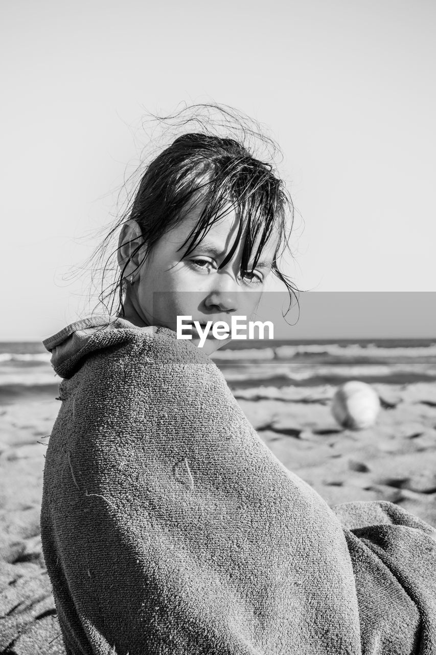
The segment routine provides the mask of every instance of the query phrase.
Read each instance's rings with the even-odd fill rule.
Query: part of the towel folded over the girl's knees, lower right
[[[424,534],[431,527],[386,501],[332,509],[352,558],[362,652],[436,653],[436,540]]]

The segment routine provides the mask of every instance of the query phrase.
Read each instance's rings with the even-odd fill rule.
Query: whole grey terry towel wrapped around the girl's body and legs
[[[436,653],[429,525],[329,508],[170,329],[91,318],[44,343],[64,380],[41,534],[68,654]]]

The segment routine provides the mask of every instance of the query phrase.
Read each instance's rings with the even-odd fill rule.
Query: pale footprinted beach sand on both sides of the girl
[[[374,384],[376,425],[335,423],[335,388],[234,391],[261,440],[328,504],[390,500],[436,527],[436,385]],[[46,443],[59,402],[0,407],[0,653],[64,654],[41,552]]]

